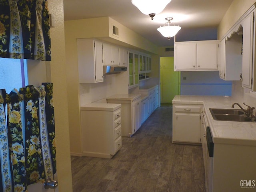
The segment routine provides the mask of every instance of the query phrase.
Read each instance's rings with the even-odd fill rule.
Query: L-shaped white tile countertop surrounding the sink
[[[218,121],[210,113],[209,108],[231,108],[232,97],[176,95],[172,104],[204,105],[214,143],[256,146],[256,122]]]

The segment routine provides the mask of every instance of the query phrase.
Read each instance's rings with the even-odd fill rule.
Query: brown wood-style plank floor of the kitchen
[[[205,192],[202,146],[172,144],[172,107],[159,107],[112,159],[71,157],[73,192]]]

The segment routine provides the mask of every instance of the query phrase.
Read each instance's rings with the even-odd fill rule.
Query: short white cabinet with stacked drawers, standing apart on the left
[[[80,108],[83,156],[112,158],[122,147],[121,104]]]

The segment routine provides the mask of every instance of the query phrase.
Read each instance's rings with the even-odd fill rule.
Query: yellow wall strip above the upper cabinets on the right
[[[255,0],[234,0],[218,26],[218,39],[221,39],[254,3]]]

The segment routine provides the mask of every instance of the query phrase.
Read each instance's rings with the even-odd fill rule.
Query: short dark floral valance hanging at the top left
[[[0,0],[0,57],[51,60],[47,0]]]

